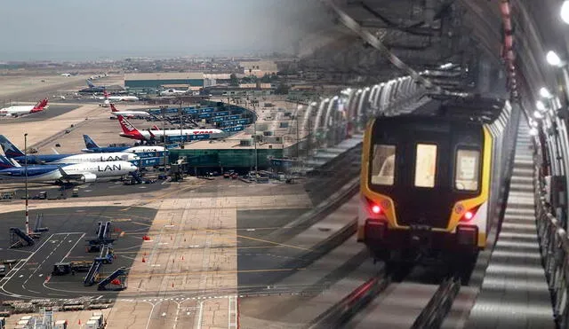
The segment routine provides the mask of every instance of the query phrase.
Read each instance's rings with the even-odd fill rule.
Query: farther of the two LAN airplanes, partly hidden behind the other
[[[13,145],[8,138],[0,135],[0,146],[4,150],[4,154],[9,159],[26,162],[26,155],[21,152],[18,146]],[[28,155],[28,164],[44,164],[44,163],[82,163],[82,162],[104,162],[104,161],[133,161],[138,160],[139,156],[134,153],[116,152],[116,153],[89,153],[89,154],[46,154],[46,155]]]

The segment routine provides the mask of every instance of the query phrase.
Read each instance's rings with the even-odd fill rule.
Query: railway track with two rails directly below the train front
[[[460,289],[458,276],[444,278],[437,286],[397,283],[381,273],[316,317],[308,327],[439,328]]]

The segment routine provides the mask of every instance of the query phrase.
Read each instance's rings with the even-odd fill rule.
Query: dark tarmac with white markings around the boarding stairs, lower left
[[[97,207],[97,208],[51,208],[42,209],[42,226],[48,227],[32,247],[12,248],[8,233],[0,237],[2,253],[7,259],[26,260],[18,262],[5,278],[0,280],[0,299],[14,298],[72,298],[85,295],[103,295],[105,298],[116,296],[116,292],[100,292],[96,286],[84,286],[86,273],[75,275],[51,276],[55,262],[87,261],[92,262],[98,253],[86,252],[86,239],[93,238],[97,222],[112,222],[112,233],[116,238],[113,244],[117,255],[115,261],[103,265],[102,278],[119,267],[132,266],[132,258],[120,255],[121,252],[135,252],[142,246],[142,236],[148,231],[156,215],[152,208]],[[31,211],[33,218],[40,212]],[[3,228],[23,228],[24,212],[12,212],[0,215]],[[123,233],[124,232],[124,233]]]

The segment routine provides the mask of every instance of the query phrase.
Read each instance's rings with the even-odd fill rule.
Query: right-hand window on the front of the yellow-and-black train
[[[480,176],[480,152],[477,150],[458,150],[454,187],[461,191],[477,191]]]

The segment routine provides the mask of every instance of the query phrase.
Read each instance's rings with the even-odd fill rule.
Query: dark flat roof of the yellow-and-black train
[[[479,121],[492,123],[500,116],[505,101],[497,98],[483,98],[477,95],[469,97],[446,97],[431,95],[425,105],[420,106],[406,118],[433,117],[449,121]]]

